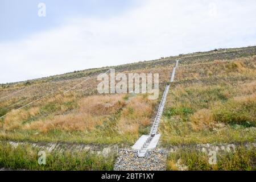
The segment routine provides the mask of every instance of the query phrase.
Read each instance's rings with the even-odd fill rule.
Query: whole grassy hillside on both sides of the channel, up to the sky
[[[123,73],[159,73],[162,94],[176,59],[179,68],[160,123],[160,147],[255,142],[256,47],[197,52],[111,68]],[[161,95],[155,101],[148,100],[146,94],[99,95],[97,75],[109,68],[1,84],[0,117],[6,117],[0,119],[0,140],[131,146],[150,130]],[[42,96],[46,97],[16,110]],[[2,160],[0,157],[0,165],[6,166]]]

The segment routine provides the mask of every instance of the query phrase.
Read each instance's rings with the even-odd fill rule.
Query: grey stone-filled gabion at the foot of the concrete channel
[[[119,150],[114,171],[165,171],[167,155],[165,151],[148,151],[144,158],[137,157],[137,151]]]

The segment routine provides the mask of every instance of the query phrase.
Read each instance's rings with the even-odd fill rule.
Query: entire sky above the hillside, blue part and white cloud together
[[[255,22],[255,0],[0,0],[0,83],[256,46]]]

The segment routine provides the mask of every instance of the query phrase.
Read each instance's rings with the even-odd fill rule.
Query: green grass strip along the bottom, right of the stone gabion
[[[167,170],[178,170],[179,166],[185,166],[187,170],[209,171],[209,170],[255,170],[256,152],[255,148],[246,149],[238,147],[234,152],[217,152],[216,164],[210,164],[210,156],[195,148],[183,148],[167,157]],[[179,163],[177,161],[179,160]],[[183,166],[183,168],[184,168]]]

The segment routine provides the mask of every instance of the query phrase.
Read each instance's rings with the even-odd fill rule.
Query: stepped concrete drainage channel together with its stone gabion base
[[[176,60],[176,65],[172,70],[170,83],[174,81],[175,71],[178,67],[179,60]],[[119,150],[117,161],[114,165],[114,170],[165,170],[167,154],[164,150],[156,150],[156,146],[160,139],[160,134],[157,133],[162,117],[164,105],[170,84],[164,89],[162,100],[160,101],[158,111],[156,113],[153,125],[149,135],[142,135],[141,138],[131,147],[131,150]]]

